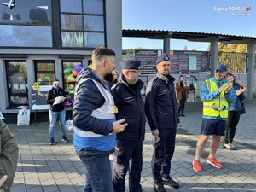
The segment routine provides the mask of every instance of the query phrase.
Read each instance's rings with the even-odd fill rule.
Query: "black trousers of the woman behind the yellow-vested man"
[[[236,134],[236,126],[240,119],[240,111],[229,111],[229,116],[226,123],[226,131],[224,143],[233,143]]]

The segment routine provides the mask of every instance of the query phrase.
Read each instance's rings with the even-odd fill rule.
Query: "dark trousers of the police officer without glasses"
[[[174,154],[176,128],[159,128],[159,137],[154,140],[154,154],[151,160],[154,183],[162,184],[162,178],[169,178],[171,160]]]

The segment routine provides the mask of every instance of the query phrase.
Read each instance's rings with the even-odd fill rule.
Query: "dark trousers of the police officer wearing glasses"
[[[113,191],[125,192],[125,176],[129,170],[129,191],[142,192],[143,141],[117,140],[113,152]]]

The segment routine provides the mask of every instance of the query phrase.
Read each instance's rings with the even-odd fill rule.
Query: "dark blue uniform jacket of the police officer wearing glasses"
[[[143,81],[138,80],[136,84],[127,84],[125,77],[119,83],[114,84],[111,90],[113,100],[118,108],[116,119],[125,118],[125,131],[117,134],[117,138],[129,141],[143,141],[145,136],[145,111],[141,96]]]

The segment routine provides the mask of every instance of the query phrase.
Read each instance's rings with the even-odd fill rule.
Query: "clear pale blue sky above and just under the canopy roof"
[[[256,37],[256,0],[122,0],[122,28]],[[123,38],[123,49],[162,49],[162,40]],[[171,49],[209,43],[171,39]]]

